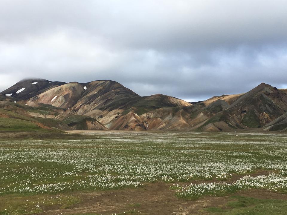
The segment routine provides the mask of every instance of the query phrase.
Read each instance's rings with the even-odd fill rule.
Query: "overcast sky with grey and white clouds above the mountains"
[[[287,88],[286,20],[286,0],[0,0],[0,91],[30,77],[188,102]]]

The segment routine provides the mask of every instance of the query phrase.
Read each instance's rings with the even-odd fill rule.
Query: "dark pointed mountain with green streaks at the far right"
[[[213,108],[213,113],[217,113],[197,127],[198,130],[261,128],[287,110],[286,92],[265,83],[247,93],[218,99],[226,102],[225,108],[221,110],[217,104],[218,109]],[[214,103],[213,101],[210,104]]]

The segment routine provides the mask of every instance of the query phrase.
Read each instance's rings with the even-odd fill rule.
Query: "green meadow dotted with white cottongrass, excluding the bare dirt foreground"
[[[46,213],[49,206],[78,203],[77,191],[151,182],[173,183],[175,195],[187,199],[249,189],[287,193],[286,134],[105,132],[94,137],[0,141],[0,214]],[[250,176],[258,170],[268,174]],[[241,177],[230,182],[234,174]]]

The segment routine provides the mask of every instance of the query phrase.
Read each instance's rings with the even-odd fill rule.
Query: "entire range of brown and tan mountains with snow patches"
[[[189,103],[109,80],[25,79],[0,93],[0,130],[286,131],[286,110],[287,90],[265,83]]]

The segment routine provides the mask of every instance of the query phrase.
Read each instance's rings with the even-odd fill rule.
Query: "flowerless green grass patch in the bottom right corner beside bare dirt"
[[[286,215],[287,200],[231,196],[227,204],[205,211],[210,215]]]

